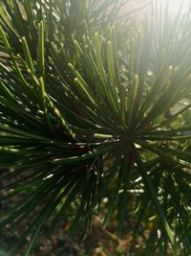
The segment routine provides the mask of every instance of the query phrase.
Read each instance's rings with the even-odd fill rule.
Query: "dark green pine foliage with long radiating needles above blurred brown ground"
[[[0,227],[29,220],[25,255],[73,202],[87,231],[104,198],[119,235],[135,218],[145,250],[191,254],[191,9],[136,22],[126,2],[0,1]]]

